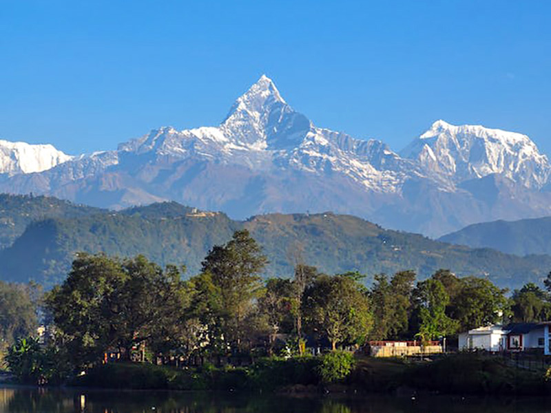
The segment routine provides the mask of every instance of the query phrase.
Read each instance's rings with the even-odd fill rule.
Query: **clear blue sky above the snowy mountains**
[[[0,0],[0,138],[67,153],[217,125],[261,74],[394,150],[442,118],[551,156],[551,1]]]

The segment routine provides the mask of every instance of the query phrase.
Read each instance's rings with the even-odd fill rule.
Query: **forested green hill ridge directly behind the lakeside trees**
[[[516,288],[539,282],[551,269],[548,255],[518,257],[445,244],[384,230],[351,215],[269,214],[238,222],[223,213],[169,202],[32,222],[12,246],[0,251],[0,275],[52,286],[65,277],[76,251],[121,257],[143,253],[159,264],[185,264],[187,275],[194,275],[209,248],[227,242],[243,227],[269,257],[266,276],[289,276],[297,261],[326,273],[357,270],[368,280],[381,272],[413,269],[427,277],[450,268],[458,275],[487,275],[500,286]]]

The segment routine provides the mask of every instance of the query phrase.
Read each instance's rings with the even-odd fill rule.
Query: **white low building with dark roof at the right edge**
[[[541,323],[511,323],[473,328],[459,334],[459,350],[490,352],[543,350],[551,354],[550,321]]]

